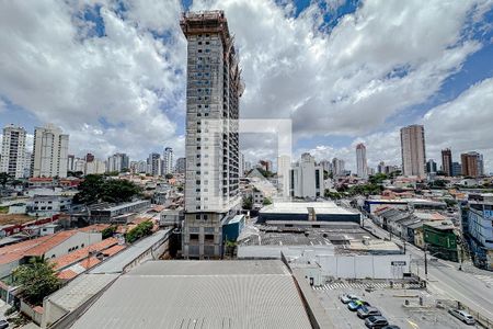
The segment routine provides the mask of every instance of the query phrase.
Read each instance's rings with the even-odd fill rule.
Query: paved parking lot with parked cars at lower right
[[[389,325],[397,325],[400,328],[474,328],[462,324],[457,318],[447,313],[447,307],[437,308],[436,299],[426,291],[422,290],[377,290],[366,292],[364,288],[332,288],[314,290],[322,306],[328,311],[335,328],[366,328],[365,321],[357,317],[355,311],[347,309],[339,297],[341,294],[355,294],[371,306],[377,307]],[[423,297],[423,306],[419,304],[419,297]],[[404,306],[404,300],[409,300],[409,306]],[[480,327],[478,327],[480,328]]]

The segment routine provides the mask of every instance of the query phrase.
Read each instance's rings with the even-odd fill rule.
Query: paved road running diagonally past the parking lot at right
[[[365,226],[370,228],[378,237],[389,237],[389,232],[375,225],[370,219],[365,220]],[[392,241],[402,246],[403,241],[392,236]],[[406,243],[406,252],[411,253],[413,273],[420,274],[425,279],[424,273],[424,252],[420,248]],[[429,260],[429,253],[428,253]],[[459,300],[470,308],[480,311],[483,316],[493,321],[493,287],[486,282],[478,279],[474,274],[458,270],[458,264],[442,260],[428,261],[428,287],[432,291],[449,296]],[[486,273],[486,272],[484,272]],[[493,273],[488,274],[493,277]]]

